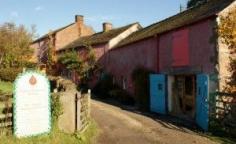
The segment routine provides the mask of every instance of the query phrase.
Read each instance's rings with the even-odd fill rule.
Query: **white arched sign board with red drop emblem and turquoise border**
[[[14,134],[28,137],[51,129],[50,84],[44,74],[25,72],[14,84]]]

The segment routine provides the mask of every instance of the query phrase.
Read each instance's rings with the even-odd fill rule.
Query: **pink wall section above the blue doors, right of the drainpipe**
[[[205,20],[203,22],[188,26],[184,28],[188,31],[188,38],[182,40],[185,52],[181,52],[183,47],[177,46],[177,43],[173,40],[173,36],[176,33],[181,33],[183,29],[171,31],[160,36],[160,73],[169,73],[171,69],[176,68],[173,50],[178,51],[179,54],[186,55],[186,62],[184,66],[188,66],[189,69],[198,69],[202,73],[212,74],[214,73],[214,62],[211,59],[215,58],[215,45],[210,43],[213,36],[213,23],[211,20]],[[184,34],[186,35],[187,32]],[[186,49],[188,47],[188,49]],[[187,53],[186,53],[187,52]],[[189,55],[189,60],[187,56]],[[181,67],[181,65],[177,66]]]

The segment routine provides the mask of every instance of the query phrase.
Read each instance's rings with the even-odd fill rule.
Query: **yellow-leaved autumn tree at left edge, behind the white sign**
[[[32,57],[30,48],[35,30],[16,26],[14,23],[0,25],[0,67],[21,67]]]

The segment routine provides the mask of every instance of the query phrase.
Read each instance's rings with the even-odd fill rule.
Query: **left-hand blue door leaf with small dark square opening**
[[[166,114],[165,75],[150,75],[150,109],[152,112]]]

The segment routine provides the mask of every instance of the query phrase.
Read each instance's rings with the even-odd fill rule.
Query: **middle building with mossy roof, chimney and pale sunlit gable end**
[[[89,45],[95,52],[98,64],[102,69],[104,69],[110,61],[110,57],[106,54],[117,46],[120,41],[124,40],[126,37],[139,29],[141,29],[141,26],[138,23],[129,24],[119,28],[113,28],[110,23],[103,23],[102,32],[98,32],[90,36],[80,37],[57,51],[57,53],[60,54],[68,50],[76,50],[78,55],[83,56],[86,45]],[[71,77],[75,82],[78,81],[78,77],[75,72],[69,72],[67,75],[69,75],[69,77]],[[91,85],[94,85],[97,82],[96,80],[98,77],[100,77],[99,74],[94,78]]]

